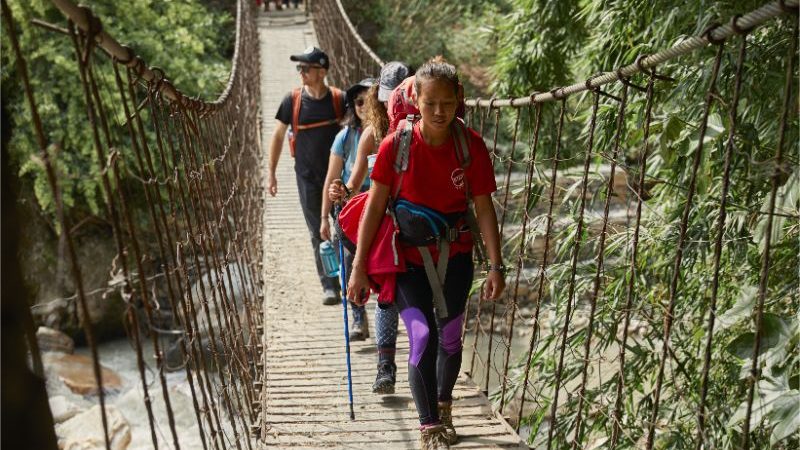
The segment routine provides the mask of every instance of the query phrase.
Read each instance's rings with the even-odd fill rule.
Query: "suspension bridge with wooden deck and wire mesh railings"
[[[316,301],[315,272],[299,208],[292,161],[278,167],[279,194],[264,191],[267,155],[281,99],[297,84],[288,57],[319,45],[332,59],[329,82],[348,86],[375,76],[383,60],[370,49],[338,0],[307,1],[308,11],[264,13],[252,2],[237,2],[232,71],[217,99],[186,96],[168,73],[149,66],[135,49],[119,43],[103,27],[103,17],[69,0],[53,0],[68,26],[38,21],[49,39],[74,46],[75,88],[85,101],[85,126],[91,128],[106,213],[117,257],[109,272],[111,290],[127,305],[126,322],[141,377],[147,414],[148,445],[153,448],[416,448],[418,422],[399,370],[398,391],[371,393],[376,354],[372,339],[352,344],[355,420],[349,417],[341,307]],[[56,219],[72,230],[62,199],[58,170],[50,154],[48,128],[39,118],[37,93],[26,67],[32,49],[20,48],[15,18],[2,0],[6,33],[22,80],[41,164],[48,175]],[[500,186],[495,203],[506,261],[515,270],[505,298],[497,303],[472,297],[467,306],[462,376],[454,391],[454,424],[460,440],[454,448],[712,448],[740,409],[738,445],[750,448],[751,435],[763,418],[764,381],[761,348],[763,322],[770,319],[766,301],[770,280],[770,236],[778,218],[797,221],[780,209],[780,189],[787,164],[797,160],[796,143],[787,141],[796,120],[796,0],[766,3],[673,47],[641,55],[630,65],[603,68],[588,80],[521,98],[470,98],[466,120],[484,136]],[[748,35],[791,17],[790,51],[785,57],[785,88],[775,93],[774,155],[768,168],[766,207],[758,211],[767,242],[751,305],[755,338],[743,366],[741,398],[715,398],[717,316],[731,308],[723,298],[724,252],[731,167],[737,158],[733,136],[737,108],[746,89]],[[120,37],[116,37],[120,38]],[[640,291],[656,270],[641,255],[653,240],[640,234],[647,214],[648,189],[654,180],[654,120],[659,93],[674,80],[659,68],[679,56],[715,46],[706,77],[699,136],[687,153],[686,183],[680,186],[684,207],[671,219],[675,241],[667,287],[657,305]],[[723,64],[725,61],[725,64]],[[724,68],[721,68],[724,66]],[[722,74],[722,71],[726,71]],[[732,80],[732,81],[731,81]],[[744,80],[744,81],[743,81]],[[732,89],[721,83],[732,82]],[[742,84],[745,87],[742,87]],[[729,96],[727,96],[730,94]],[[726,96],[724,96],[726,95]],[[637,123],[629,123],[629,105],[642,105]],[[794,106],[793,106],[794,105]],[[606,115],[603,115],[606,111]],[[610,112],[609,112],[610,111]],[[722,151],[704,148],[712,113],[727,114],[729,138]],[[613,122],[601,139],[599,122]],[[564,128],[585,125],[585,141],[565,143]],[[663,123],[659,124],[664,127]],[[641,132],[631,133],[632,128]],[[576,149],[579,145],[581,148]],[[636,148],[637,158],[625,158]],[[284,151],[284,154],[288,152]],[[567,156],[568,155],[568,156]],[[709,158],[721,163],[706,164]],[[572,163],[570,165],[570,163]],[[715,170],[722,190],[713,204],[715,223],[707,306],[699,316],[679,309],[684,268],[693,243],[689,224],[698,173]],[[138,197],[134,197],[134,193]],[[142,205],[144,202],[144,205]],[[777,205],[777,206],[776,206]],[[795,211],[796,212],[796,211]],[[781,219],[781,220],[783,220]],[[759,219],[760,220],[760,219]],[[75,284],[77,308],[88,317],[87,298],[77,256],[80,240],[63,234],[65,257]],[[559,275],[560,274],[560,275]],[[612,302],[611,287],[619,295]],[[723,309],[721,305],[724,306]],[[374,305],[369,305],[373,313]],[[685,325],[701,322],[704,334],[694,354],[671,346],[684,339]],[[175,424],[171,378],[165,361],[164,323],[181,330],[177,348],[180,370],[191,392],[196,436],[187,444]],[[99,386],[98,419],[103,441],[115,445],[109,394],[101,376],[92,326],[82,320]],[[408,355],[401,326],[398,361]],[[141,331],[140,331],[141,330]],[[27,329],[30,338],[30,329]],[[28,339],[34,376],[44,377],[35,339]],[[772,344],[770,344],[772,345]],[[645,350],[642,350],[645,349]],[[544,354],[550,363],[544,363]],[[155,372],[148,374],[148,354]],[[753,355],[755,355],[753,357]],[[548,365],[549,364],[549,365]],[[700,375],[689,377],[687,367]],[[648,370],[646,386],[626,381]],[[691,384],[689,380],[697,380]],[[690,400],[685,391],[696,390]],[[687,402],[691,430],[673,430],[676,402]],[[157,405],[157,407],[156,407]],[[50,421],[49,423],[52,423]],[[49,434],[49,430],[48,433]],[[520,434],[524,438],[520,437]],[[674,436],[680,436],[675,438]],[[62,443],[63,446],[63,443]]]

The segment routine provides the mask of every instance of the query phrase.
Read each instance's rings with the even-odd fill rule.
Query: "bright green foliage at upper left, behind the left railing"
[[[228,11],[204,6],[203,2],[152,0],[96,0],[87,6],[100,18],[106,32],[132,47],[147,64],[161,67],[187,94],[214,99],[224,89],[234,41],[233,17]],[[64,25],[66,20],[45,0],[10,2],[10,7],[64,204],[77,216],[102,216],[105,202],[72,40],[30,22],[38,18]],[[32,179],[42,210],[52,215],[54,200],[39,159],[40,149],[34,138],[15,55],[5,33],[4,27],[2,94],[13,124],[12,164],[19,168],[20,177]],[[121,126],[124,114],[113,70],[102,52],[96,51],[93,58],[100,95],[107,107],[114,108],[108,111],[112,132],[124,134]],[[130,157],[128,153],[125,152]]]

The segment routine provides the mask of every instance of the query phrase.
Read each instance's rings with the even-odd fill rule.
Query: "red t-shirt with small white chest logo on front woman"
[[[409,149],[408,170],[403,175],[403,185],[398,196],[440,213],[449,214],[467,209],[464,175],[469,183],[472,197],[496,191],[494,169],[486,144],[475,130],[468,128],[467,132],[471,162],[465,171],[456,155],[452,136],[444,144],[431,146],[422,138],[419,123],[415,124]],[[371,175],[376,182],[390,187],[390,195],[394,195],[400,177],[394,170],[396,158],[393,138],[394,134],[390,134],[381,142]],[[430,250],[434,261],[438,260],[437,249],[432,246]],[[472,251],[471,233],[461,233],[459,239],[450,245],[451,257],[469,251]],[[404,246],[403,254],[410,263],[422,264],[422,257],[416,248]]]

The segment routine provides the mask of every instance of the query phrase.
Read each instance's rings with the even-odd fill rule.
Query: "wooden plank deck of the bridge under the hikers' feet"
[[[278,104],[298,84],[289,55],[316,40],[312,25],[296,11],[262,13],[259,31],[262,142],[268,149]],[[356,419],[349,418],[342,307],[322,305],[292,164],[284,148],[278,168],[278,196],[267,198],[264,217],[267,286],[262,445],[292,449],[417,448],[419,422],[408,388],[408,338],[402,324],[395,395],[380,396],[371,391],[377,364],[374,339],[353,343]],[[374,303],[368,305],[371,322],[374,307]],[[374,335],[374,327],[370,331]],[[460,435],[454,448],[527,448],[491,411],[486,397],[467,377],[459,379],[454,399],[454,423]]]

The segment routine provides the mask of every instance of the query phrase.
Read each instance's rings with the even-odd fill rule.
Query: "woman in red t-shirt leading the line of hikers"
[[[394,135],[383,140],[372,171],[372,187],[359,227],[353,272],[347,291],[356,304],[363,304],[369,290],[365,263],[391,195],[451,216],[467,210],[467,187],[477,213],[478,227],[491,261],[483,295],[497,300],[505,288],[497,217],[491,194],[496,190],[494,172],[483,139],[467,130],[471,163],[462,168],[451,134],[460,104],[455,67],[436,58],[416,74],[414,99],[421,119],[414,124],[408,169],[402,180],[394,169]],[[401,225],[402,228],[402,225]],[[408,378],[417,406],[422,448],[449,448],[456,439],[452,425],[453,386],[461,368],[461,329],[473,278],[472,238],[460,233],[450,245],[444,282],[447,317],[437,317],[433,291],[415,247],[403,246],[407,271],[397,276],[395,301],[405,323],[410,343]],[[433,259],[437,249],[430,247]]]

